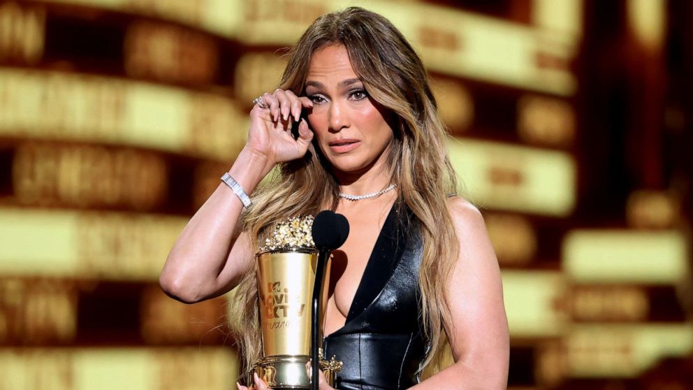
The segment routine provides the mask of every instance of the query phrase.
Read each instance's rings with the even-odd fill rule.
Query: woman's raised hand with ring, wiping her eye
[[[250,112],[246,147],[267,157],[272,164],[303,157],[313,139],[313,132],[300,115],[301,110],[311,109],[313,102],[284,89],[265,93],[258,101]],[[291,124],[298,120],[298,138],[294,139]]]

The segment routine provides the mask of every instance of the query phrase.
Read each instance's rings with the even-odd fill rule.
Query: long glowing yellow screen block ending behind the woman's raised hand
[[[248,118],[233,100],[146,82],[0,67],[0,136],[132,145],[230,160]]]

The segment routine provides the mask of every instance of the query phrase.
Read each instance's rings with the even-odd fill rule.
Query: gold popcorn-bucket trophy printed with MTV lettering
[[[277,224],[272,237],[265,240],[255,255],[263,356],[247,373],[247,384],[253,383],[256,373],[275,390],[317,389],[317,380],[312,381],[311,377],[317,375],[318,367],[313,366],[312,375],[306,368],[311,356],[318,357],[313,361],[320,362],[319,369],[330,386],[334,386],[336,374],[342,370],[342,362],[336,361],[335,356],[329,361],[322,358],[319,343],[323,339],[328,298],[323,287],[329,283],[330,250],[346,240],[349,225],[344,217],[337,215],[344,219],[337,222],[338,227],[346,223],[346,233],[342,227],[341,234],[344,239],[336,246],[336,241],[328,243],[332,247],[316,245],[314,236],[326,236],[325,231],[328,236],[334,236],[329,231],[334,230],[335,220],[330,215],[324,218],[323,213],[326,212],[315,218],[317,224],[310,215],[299,215]],[[316,232],[316,228],[320,231]]]

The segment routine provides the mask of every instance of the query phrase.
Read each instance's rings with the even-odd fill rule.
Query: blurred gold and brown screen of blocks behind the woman
[[[432,76],[502,267],[509,389],[693,389],[693,3],[0,0],[0,390],[235,389],[158,276],[286,48],[350,5]]]

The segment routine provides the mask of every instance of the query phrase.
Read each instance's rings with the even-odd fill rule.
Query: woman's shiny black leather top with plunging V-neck
[[[409,212],[393,206],[346,324],[323,341],[325,356],[344,363],[337,389],[407,389],[419,382],[427,352],[418,287],[423,243],[410,219]]]

